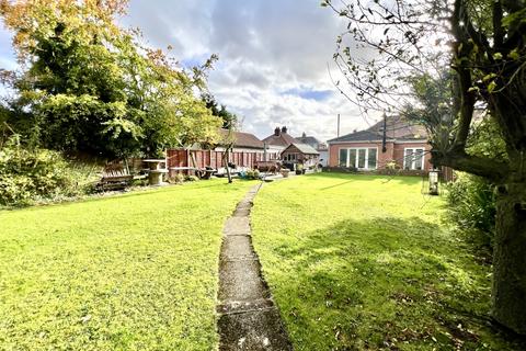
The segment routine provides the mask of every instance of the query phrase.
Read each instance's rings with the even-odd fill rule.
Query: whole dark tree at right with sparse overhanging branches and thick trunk
[[[339,87],[364,110],[414,102],[400,78],[437,78],[436,66],[449,63],[453,115],[422,118],[432,136],[432,162],[498,184],[492,314],[526,335],[526,1],[324,0],[322,5],[348,21],[334,59],[354,94]],[[506,157],[468,148],[476,105],[498,126]]]

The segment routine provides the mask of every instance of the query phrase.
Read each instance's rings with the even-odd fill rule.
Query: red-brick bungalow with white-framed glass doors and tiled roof
[[[356,168],[361,171],[395,168],[414,173],[432,169],[431,145],[421,125],[401,116],[386,120],[386,144],[382,150],[384,121],[371,127],[330,139],[329,166]]]

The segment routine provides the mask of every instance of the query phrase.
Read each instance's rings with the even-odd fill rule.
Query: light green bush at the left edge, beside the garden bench
[[[18,137],[0,150],[0,205],[28,205],[83,194],[89,189],[85,170],[57,151],[25,149]]]

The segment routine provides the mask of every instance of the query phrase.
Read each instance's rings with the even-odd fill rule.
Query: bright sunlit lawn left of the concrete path
[[[0,349],[215,349],[221,227],[251,184],[0,212]]]

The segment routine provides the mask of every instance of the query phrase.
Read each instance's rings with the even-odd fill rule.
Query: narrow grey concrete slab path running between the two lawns
[[[293,350],[251,241],[250,210],[261,184],[224,227],[219,257],[219,350]]]

